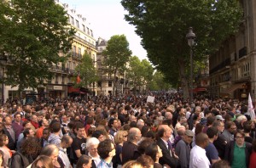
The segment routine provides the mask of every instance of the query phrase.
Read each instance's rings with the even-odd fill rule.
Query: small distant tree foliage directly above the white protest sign
[[[149,82],[149,89],[151,91],[163,91],[169,90],[172,87],[170,83],[167,83],[163,74],[160,71],[156,71],[153,76],[153,80]]]

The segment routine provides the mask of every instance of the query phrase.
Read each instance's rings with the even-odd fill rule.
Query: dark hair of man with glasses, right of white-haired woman
[[[105,139],[104,141],[99,143],[99,146],[97,148],[98,149],[98,154],[100,155],[100,157],[103,160],[108,158],[109,152],[111,152],[113,150],[111,144],[112,144],[112,141],[110,139]]]

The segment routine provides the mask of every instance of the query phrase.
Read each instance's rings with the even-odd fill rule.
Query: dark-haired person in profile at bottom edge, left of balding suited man
[[[150,156],[154,160],[154,168],[162,168],[159,159],[163,156],[162,150],[156,143],[151,143],[148,148],[146,148],[145,154]]]

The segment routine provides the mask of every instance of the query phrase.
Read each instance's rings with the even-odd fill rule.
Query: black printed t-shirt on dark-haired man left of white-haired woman
[[[85,154],[85,149],[86,149],[86,139],[83,137],[80,139],[79,137],[75,137],[73,139],[72,143],[72,148],[73,148],[73,155],[74,155],[74,161],[75,163],[79,160],[77,157],[77,154],[75,153],[76,150],[80,150],[81,154]]]

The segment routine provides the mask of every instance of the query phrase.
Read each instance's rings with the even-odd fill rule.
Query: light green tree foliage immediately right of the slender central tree
[[[152,80],[154,69],[147,59],[140,61],[137,56],[133,56],[129,61],[129,65],[130,68],[127,70],[126,77],[137,87],[147,85]]]

